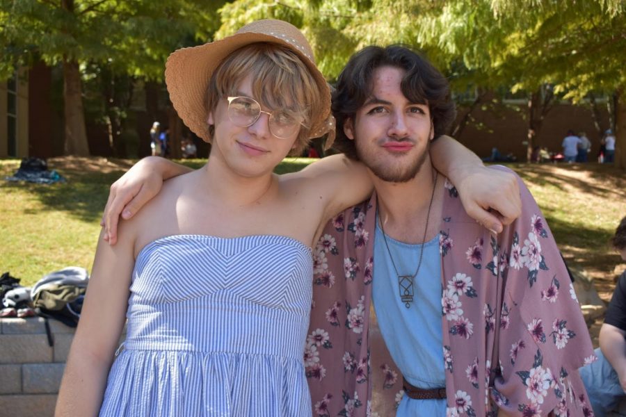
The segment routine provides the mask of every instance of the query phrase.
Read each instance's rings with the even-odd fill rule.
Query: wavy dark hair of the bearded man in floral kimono
[[[374,88],[374,71],[383,66],[397,67],[406,72],[401,81],[402,92],[413,103],[428,104],[435,138],[445,133],[456,117],[447,79],[426,58],[403,45],[365,47],[348,60],[332,94],[332,114],[337,120],[334,147],[348,158],[358,159],[354,141],[344,133],[344,123],[353,119],[369,99]]]

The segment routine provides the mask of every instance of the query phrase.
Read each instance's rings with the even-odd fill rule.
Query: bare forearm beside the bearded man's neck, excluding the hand
[[[470,170],[483,167],[483,161],[474,152],[445,135],[431,142],[431,161],[455,186]]]

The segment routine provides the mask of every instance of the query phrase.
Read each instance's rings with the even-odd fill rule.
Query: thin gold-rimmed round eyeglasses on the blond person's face
[[[261,113],[269,115],[269,131],[277,138],[289,139],[300,130],[303,117],[296,117],[287,111],[266,112],[261,110],[261,105],[250,97],[226,97],[228,100],[228,118],[240,127],[248,127],[255,124]]]

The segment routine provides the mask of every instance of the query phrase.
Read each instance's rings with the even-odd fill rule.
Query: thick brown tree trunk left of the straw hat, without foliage
[[[63,99],[65,100],[65,154],[89,156],[81,72],[76,60],[63,60]]]

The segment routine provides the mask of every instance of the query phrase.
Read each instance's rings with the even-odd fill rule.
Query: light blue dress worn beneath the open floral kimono
[[[401,274],[415,273],[422,245],[408,245],[387,236]],[[380,333],[406,380],[422,389],[446,386],[441,327],[441,261],[439,236],[426,242],[422,266],[414,279],[413,301],[407,309],[399,296],[396,270],[376,222],[372,297]],[[413,400],[403,395],[396,417],[444,417],[446,400]]]

